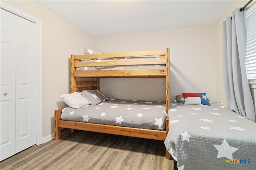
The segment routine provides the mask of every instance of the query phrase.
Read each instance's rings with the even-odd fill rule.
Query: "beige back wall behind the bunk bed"
[[[206,92],[216,100],[215,24],[180,27],[95,38],[104,53],[165,49],[170,47],[170,96],[182,92]],[[126,99],[165,100],[165,81],[141,79],[103,79],[101,90],[107,96]],[[118,84],[118,85],[117,85]],[[143,88],[145,86],[145,88]],[[132,88],[132,93],[130,88]]]

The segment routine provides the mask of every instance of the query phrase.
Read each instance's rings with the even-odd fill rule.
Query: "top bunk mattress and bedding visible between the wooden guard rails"
[[[159,57],[120,57],[118,61],[136,61],[144,59],[160,59]],[[79,63],[97,63],[97,62],[112,62],[113,59],[82,59]],[[122,65],[122,66],[81,66],[76,67],[79,70],[127,70],[127,69],[152,69],[152,68],[166,68],[165,64],[140,64],[140,65]]]

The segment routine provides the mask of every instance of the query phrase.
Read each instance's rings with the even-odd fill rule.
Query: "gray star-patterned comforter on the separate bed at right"
[[[256,123],[222,103],[171,102],[166,149],[178,170],[255,170]]]

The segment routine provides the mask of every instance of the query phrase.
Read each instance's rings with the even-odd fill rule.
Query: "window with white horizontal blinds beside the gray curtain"
[[[256,9],[247,14],[245,68],[248,82],[256,82]]]

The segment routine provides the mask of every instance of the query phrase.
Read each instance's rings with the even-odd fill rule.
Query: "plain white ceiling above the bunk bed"
[[[234,0],[36,1],[95,37],[215,23],[234,2]]]

